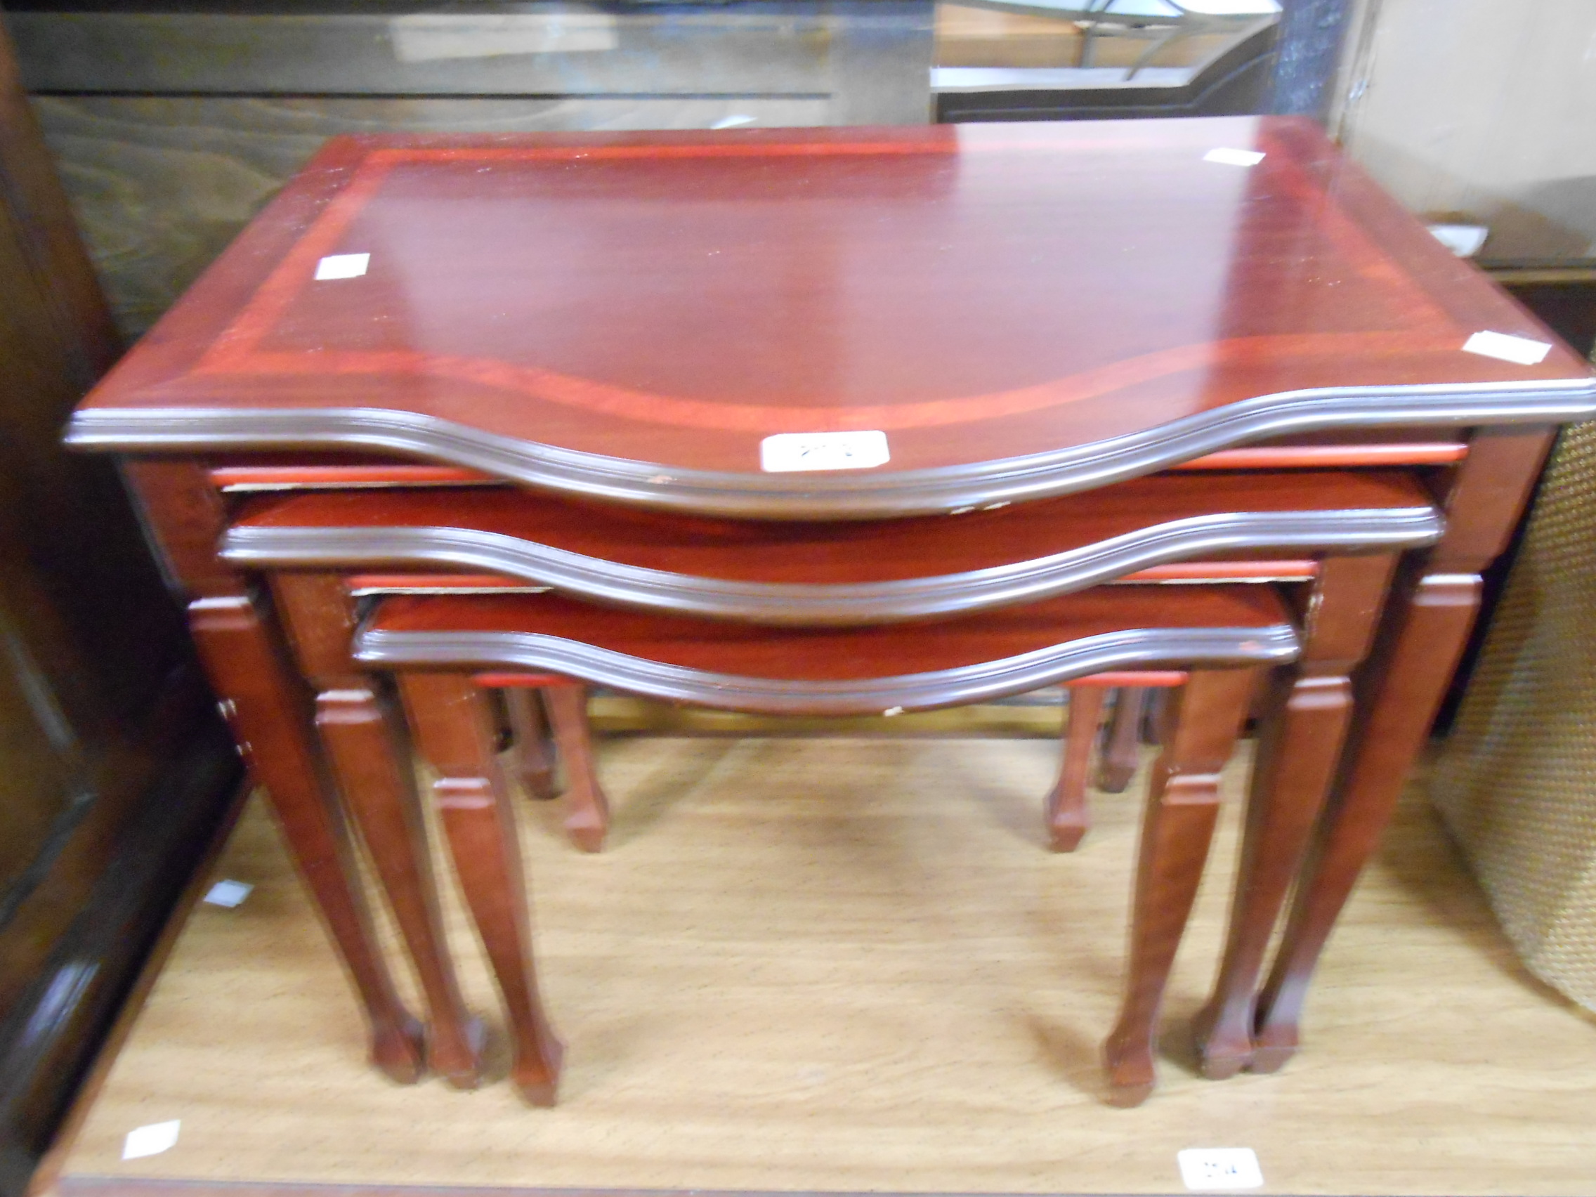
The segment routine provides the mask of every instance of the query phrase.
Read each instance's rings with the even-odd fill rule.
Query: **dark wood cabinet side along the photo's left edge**
[[[19,1194],[241,769],[109,460],[120,351],[0,35],[0,1192]]]

